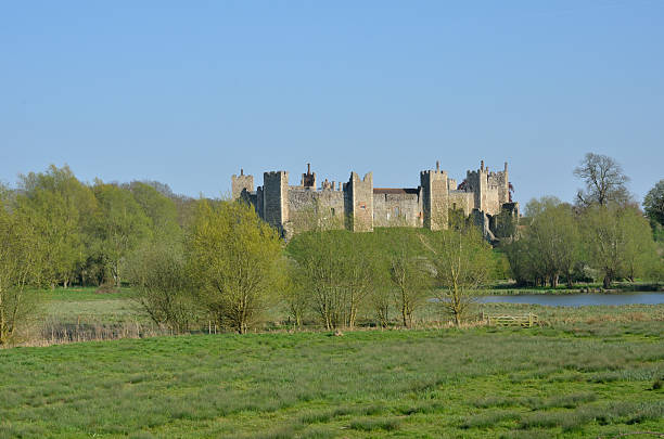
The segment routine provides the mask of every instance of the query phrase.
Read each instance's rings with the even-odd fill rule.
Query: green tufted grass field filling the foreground
[[[0,350],[0,438],[664,430],[662,321],[592,327],[192,335]]]

